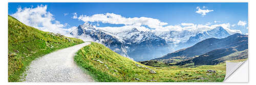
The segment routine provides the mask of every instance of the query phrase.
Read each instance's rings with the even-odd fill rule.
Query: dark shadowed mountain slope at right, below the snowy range
[[[225,61],[248,57],[248,36],[239,33],[226,38],[205,39],[191,47],[168,53],[153,60],[172,63],[171,65],[217,65]],[[178,62],[177,62],[178,61]]]

